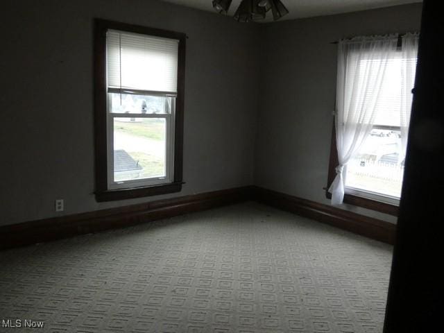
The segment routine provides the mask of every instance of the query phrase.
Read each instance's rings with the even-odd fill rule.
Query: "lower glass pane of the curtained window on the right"
[[[374,128],[347,164],[345,187],[400,198],[403,175],[400,130]]]

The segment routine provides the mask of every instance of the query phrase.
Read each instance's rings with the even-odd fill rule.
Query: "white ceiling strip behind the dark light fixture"
[[[212,0],[164,0],[181,6],[217,12],[212,7]],[[282,19],[300,19],[302,17],[314,17],[339,14],[341,12],[356,12],[389,6],[397,6],[405,3],[422,2],[422,0],[281,0],[289,10],[289,14]],[[234,15],[241,0],[233,0],[228,15]],[[217,14],[219,15],[219,14]],[[266,22],[271,21],[271,12],[267,13]]]

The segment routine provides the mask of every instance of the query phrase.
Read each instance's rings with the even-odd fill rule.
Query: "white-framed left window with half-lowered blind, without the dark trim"
[[[107,31],[110,189],[173,180],[179,40]]]

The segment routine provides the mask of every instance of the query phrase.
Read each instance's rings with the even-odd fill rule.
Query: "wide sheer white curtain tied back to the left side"
[[[343,168],[372,130],[381,83],[397,42],[398,35],[339,41],[335,117],[339,165],[329,189],[332,205],[343,202]]]

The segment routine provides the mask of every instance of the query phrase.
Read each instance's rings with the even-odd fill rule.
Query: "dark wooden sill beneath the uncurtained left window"
[[[182,191],[183,182],[171,182],[170,184],[153,185],[147,187],[133,187],[130,189],[108,189],[95,193],[98,203],[112,200],[124,200],[143,198],[144,196],[158,196]]]

